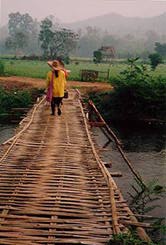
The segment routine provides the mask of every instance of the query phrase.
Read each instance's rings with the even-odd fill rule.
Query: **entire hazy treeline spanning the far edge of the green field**
[[[147,31],[144,36],[120,34],[112,35],[111,32],[90,26],[75,32],[62,27],[53,16],[39,22],[28,13],[17,12],[9,14],[8,26],[1,29],[0,53],[52,58],[69,55],[93,57],[94,50],[112,46],[117,58],[139,56],[146,59],[155,51],[158,43],[159,52],[166,57],[165,35],[153,30]]]

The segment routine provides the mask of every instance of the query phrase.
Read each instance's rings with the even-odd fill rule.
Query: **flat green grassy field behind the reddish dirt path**
[[[27,61],[27,60],[3,60],[5,65],[5,73],[8,76],[23,76],[33,78],[45,78],[49,71],[49,66],[44,61]],[[71,70],[69,80],[80,80],[80,71],[82,69],[92,69],[98,71],[110,70],[109,80],[120,74],[126,68],[126,64],[93,64],[90,62],[79,62],[78,64],[66,65]],[[150,67],[149,67],[150,70]],[[166,64],[159,65],[155,71],[150,72],[154,76],[166,77]],[[104,81],[105,79],[100,79]]]

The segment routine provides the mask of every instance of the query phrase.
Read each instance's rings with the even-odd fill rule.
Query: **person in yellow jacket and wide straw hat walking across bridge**
[[[66,89],[66,77],[58,60],[48,61],[51,71],[47,73],[47,95],[46,100],[51,102],[51,115],[55,115],[57,107],[58,115],[61,115],[61,102]]]

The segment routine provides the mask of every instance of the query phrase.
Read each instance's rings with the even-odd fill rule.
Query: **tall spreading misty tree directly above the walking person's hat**
[[[65,58],[76,48],[78,36],[73,31],[54,26],[49,18],[41,22],[40,28],[39,40],[45,58],[55,59],[57,56]]]

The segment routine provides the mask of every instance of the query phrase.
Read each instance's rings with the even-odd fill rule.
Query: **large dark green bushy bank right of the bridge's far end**
[[[166,79],[152,77],[136,59],[112,82],[114,90],[101,95],[93,94],[106,120],[165,120]]]

